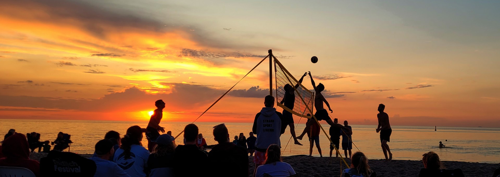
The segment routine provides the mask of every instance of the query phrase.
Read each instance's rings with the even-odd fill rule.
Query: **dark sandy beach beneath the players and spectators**
[[[40,160],[47,153],[30,153],[30,158]],[[79,154],[83,157],[90,157],[92,154]],[[283,161],[293,166],[297,173],[302,176],[340,176],[340,158],[314,157],[308,155],[283,156]],[[350,160],[346,159],[350,164]],[[422,161],[419,160],[392,160],[370,159],[369,165],[377,176],[418,176],[420,168],[423,168]],[[463,161],[443,161],[447,169],[462,169],[465,176],[491,176],[493,171],[500,167],[499,163],[478,163]],[[249,170],[253,171],[253,157],[249,157]],[[345,165],[342,164],[342,169]]]

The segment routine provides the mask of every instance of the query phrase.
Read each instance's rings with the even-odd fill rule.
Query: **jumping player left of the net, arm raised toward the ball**
[[[307,75],[307,72],[305,72],[302,77],[298,80],[298,82],[302,83],[302,80],[304,79],[305,75]],[[283,86],[283,89],[285,90],[283,99],[279,103],[283,104],[290,110],[293,110],[293,107],[295,105],[295,89],[298,88],[298,83],[295,84],[295,87],[292,87],[290,84],[285,84]],[[283,118],[286,120],[286,124],[290,126],[290,134],[293,137],[293,141],[295,144],[302,145],[300,142],[298,142],[297,137],[295,135],[295,125],[293,125],[293,116],[291,112],[288,112],[287,110],[283,109]],[[286,126],[284,127],[286,128]]]

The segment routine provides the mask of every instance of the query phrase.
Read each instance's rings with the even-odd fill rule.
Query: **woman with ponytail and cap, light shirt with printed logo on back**
[[[149,158],[149,151],[142,146],[142,132],[140,126],[130,126],[121,138],[121,146],[114,152],[113,161],[130,176],[144,177]]]

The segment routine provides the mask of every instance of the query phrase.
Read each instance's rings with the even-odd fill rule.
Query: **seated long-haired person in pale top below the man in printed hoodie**
[[[287,177],[295,174],[291,165],[281,160],[281,150],[277,144],[269,145],[265,151],[264,164],[259,165],[255,172],[256,177],[263,177],[264,174],[272,177]]]

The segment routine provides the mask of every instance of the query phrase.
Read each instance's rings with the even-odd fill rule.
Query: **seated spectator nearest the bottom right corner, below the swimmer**
[[[423,176],[428,176],[428,177],[434,177],[434,176],[457,176],[457,177],[463,177],[463,172],[461,169],[444,169],[444,167],[441,164],[441,160],[439,159],[439,155],[437,153],[430,151],[427,153],[424,153],[422,155],[422,163],[423,167],[420,169],[420,173],[418,174],[419,177]]]

